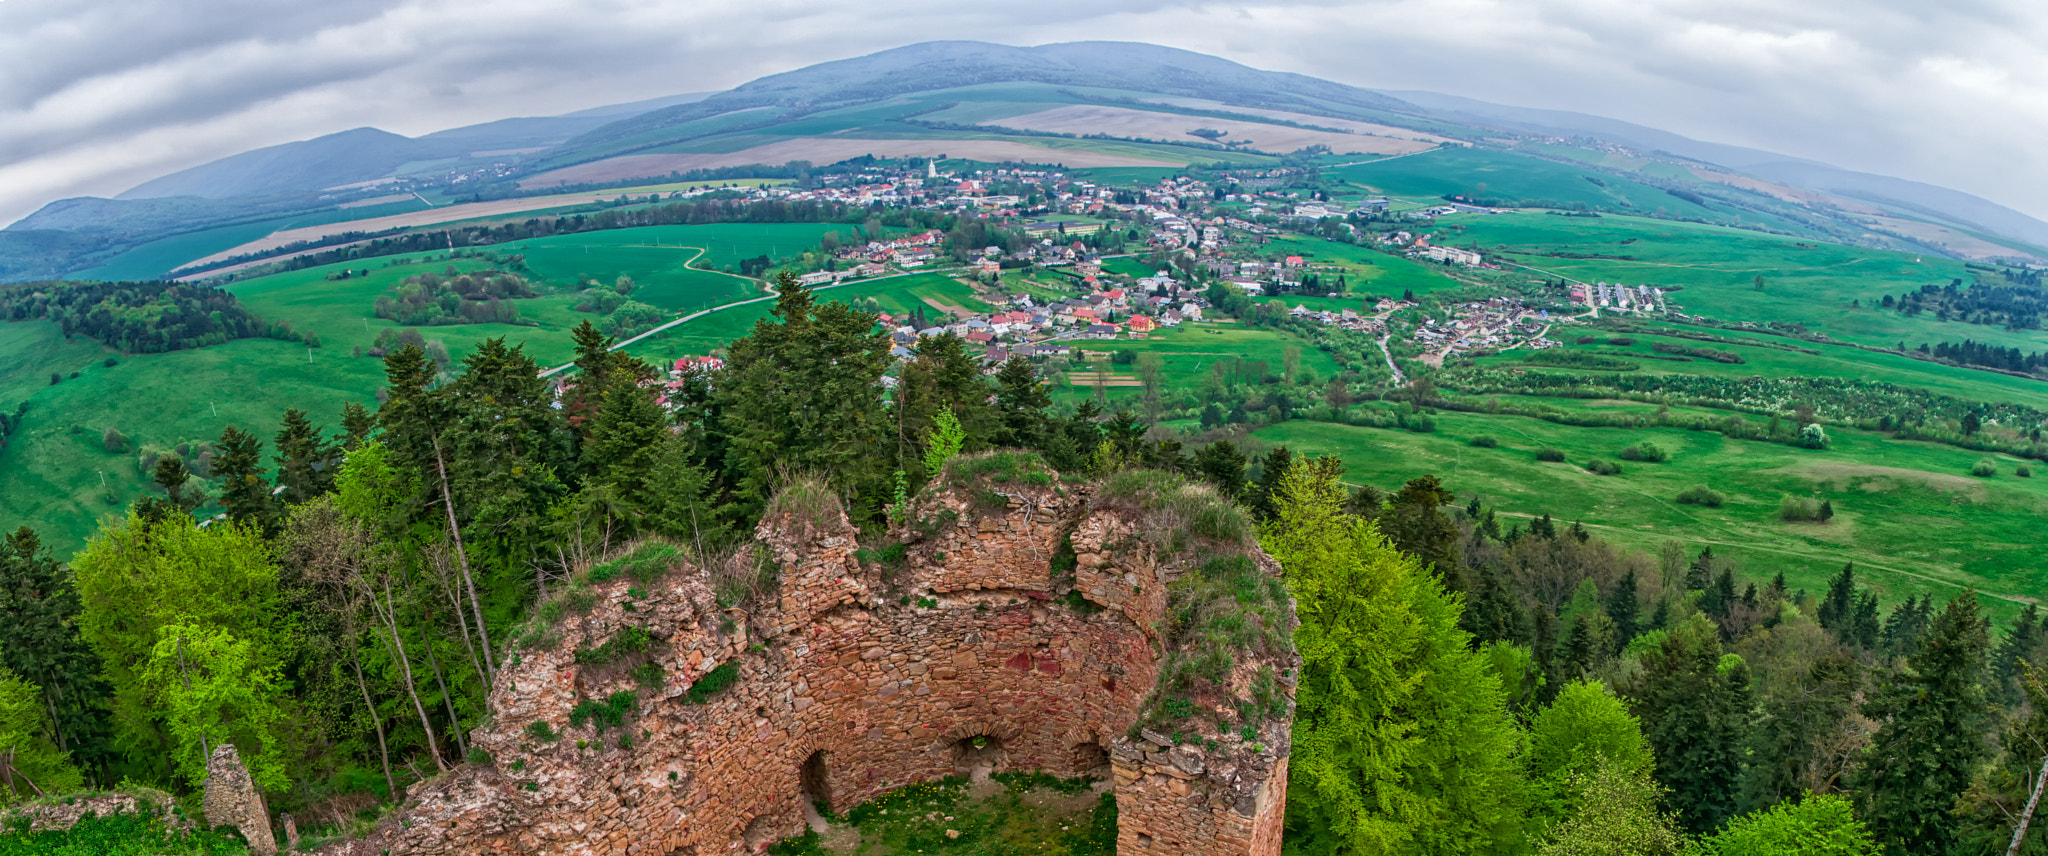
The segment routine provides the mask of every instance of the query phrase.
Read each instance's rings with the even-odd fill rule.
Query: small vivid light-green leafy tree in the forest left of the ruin
[[[143,684],[170,725],[174,766],[193,788],[207,784],[213,747],[233,743],[264,790],[285,790],[283,678],[262,649],[203,625],[164,625],[143,666]]]

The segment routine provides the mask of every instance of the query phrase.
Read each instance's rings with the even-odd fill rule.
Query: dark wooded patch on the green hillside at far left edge
[[[0,289],[6,319],[49,319],[129,354],[205,348],[238,338],[299,340],[221,289],[186,283],[31,283]],[[309,334],[307,334],[309,336]],[[317,344],[309,340],[307,344]]]

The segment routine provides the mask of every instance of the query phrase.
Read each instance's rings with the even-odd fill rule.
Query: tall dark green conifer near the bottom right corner
[[[1976,592],[1964,592],[1927,627],[1909,668],[1864,702],[1864,715],[1882,725],[1853,784],[1886,852],[1946,854],[1956,842],[1950,809],[1985,758],[1989,649]]]

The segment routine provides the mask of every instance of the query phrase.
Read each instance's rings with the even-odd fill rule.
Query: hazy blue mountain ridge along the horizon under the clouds
[[[772,74],[725,92],[647,98],[557,117],[502,119],[422,137],[360,127],[236,154],[147,180],[115,199],[55,201],[0,229],[0,283],[90,272],[137,246],[221,225],[283,223],[293,217],[344,219],[346,215],[336,211],[338,205],[375,205],[389,197],[391,190],[379,186],[385,180],[406,178],[410,182],[399,184],[399,188],[418,186],[434,197],[440,192],[436,188],[459,186],[461,190],[455,192],[467,195],[469,188],[489,182],[498,182],[492,192],[516,195],[522,192],[518,190],[522,178],[549,170],[582,168],[582,164],[596,164],[596,174],[625,164],[623,172],[612,178],[592,178],[598,182],[594,186],[625,176],[666,178],[672,168],[651,164],[672,162],[676,154],[735,152],[760,145],[760,139],[819,135],[821,131],[811,129],[817,127],[815,119],[831,117],[834,111],[887,104],[893,98],[909,104],[918,94],[944,90],[965,90],[967,98],[973,98],[977,92],[973,88],[987,84],[1030,84],[1044,88],[1047,94],[1057,92],[1057,98],[1116,104],[1118,109],[1157,104],[1159,111],[1176,111],[1165,102],[1198,98],[1210,104],[1210,115],[1227,117],[1221,121],[1251,121],[1231,113],[1233,109],[1255,115],[1286,111],[1296,115],[1296,123],[1307,125],[1313,125],[1315,117],[1348,119],[1427,131],[1479,145],[1495,145],[1501,137],[1599,139],[1647,154],[1661,152],[1681,166],[1729,170],[1753,180],[1790,186],[1798,190],[1800,199],[1817,201],[1812,211],[1798,209],[1794,215],[1831,219],[1835,225],[1829,225],[1827,233],[1872,240],[1878,246],[1976,252],[1974,258],[1997,258],[2003,248],[1954,229],[1997,236],[2001,242],[2017,246],[2048,248],[2048,223],[1966,192],[1851,172],[1772,152],[1698,141],[1616,119],[1491,104],[1438,92],[1370,90],[1300,74],[1264,72],[1204,53],[1145,43],[1081,41],[1012,47],[979,41],[930,41]],[[909,106],[907,111],[932,111],[932,104],[942,109],[946,98],[928,96],[924,102],[928,106]],[[1217,104],[1223,104],[1221,113]],[[969,123],[973,121],[981,119],[969,119]],[[883,125],[852,129],[862,131],[854,135],[834,131],[842,133],[834,139],[872,139],[901,135],[903,129],[920,131],[905,123]],[[954,135],[969,129],[963,125],[936,127]],[[989,133],[1001,137],[1004,131],[991,127]],[[1106,133],[1114,139],[1128,139],[1128,133]],[[727,139],[737,141],[727,145]],[[1032,141],[1032,137],[1010,139]],[[1153,139],[1153,143],[1159,141]],[[1188,145],[1188,141],[1180,143]],[[1014,145],[1012,152],[1018,147],[1030,149],[1030,145]],[[1186,147],[1161,149],[1155,145],[1153,149],[1178,152],[1182,160],[1176,162],[1206,160],[1206,156],[1196,156],[1194,149]],[[657,158],[625,158],[641,154]],[[1540,152],[1526,154],[1540,156]],[[827,158],[846,158],[846,154]],[[778,166],[780,160],[788,160],[788,156],[768,166]],[[676,170],[688,168],[684,164]],[[1591,170],[1593,166],[1583,168]],[[481,178],[471,180],[473,176]],[[457,180],[467,180],[467,184],[457,184]],[[1741,182],[1731,184],[1743,186]],[[1720,184],[1702,186],[1702,190],[1737,192]],[[1690,190],[1675,188],[1673,192]],[[1862,215],[1855,211],[1864,209],[1862,203],[1876,203],[1894,215],[1946,223],[1939,229],[1935,229],[1933,238],[1925,233],[1901,236],[1898,229],[1884,223],[1860,223]],[[1737,205],[1747,203],[1737,201]],[[1921,225],[1907,223],[1907,227],[1911,231]],[[1876,233],[1866,229],[1876,229]],[[207,252],[231,248],[236,242]],[[1958,248],[1974,242],[1976,248],[1950,250],[1948,242],[1956,242]],[[2028,254],[2048,258],[2048,250],[2015,248],[2015,258]]]

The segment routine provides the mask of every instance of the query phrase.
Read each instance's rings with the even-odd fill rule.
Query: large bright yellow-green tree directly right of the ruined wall
[[[1511,850],[1526,790],[1499,676],[1458,600],[1343,502],[1335,467],[1294,461],[1260,539],[1300,614],[1290,850]]]

